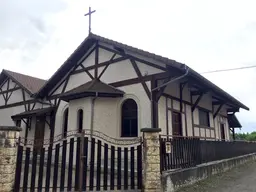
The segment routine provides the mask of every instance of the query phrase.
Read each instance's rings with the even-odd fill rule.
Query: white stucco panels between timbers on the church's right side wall
[[[171,97],[174,97],[176,99],[167,99],[168,107],[172,108],[174,110],[180,110],[180,103],[179,100],[177,100],[180,96],[179,94],[179,82],[172,83],[164,91],[166,94],[170,95]],[[193,102],[196,101],[198,96],[193,96]],[[161,97],[158,104],[158,113],[159,113],[159,127],[162,128],[162,134],[166,134],[166,128],[167,123],[169,127],[169,134],[172,134],[172,117],[171,117],[171,110],[168,111],[168,114],[166,114],[166,101],[165,97]],[[183,100],[188,101],[190,103],[190,91],[187,86],[183,89]],[[206,128],[199,125],[199,108],[205,109],[209,112],[209,121],[210,121],[210,127]],[[183,103],[183,111],[182,111],[182,130],[183,135],[186,136],[186,128],[185,125],[187,125],[187,135],[188,136],[198,136],[203,138],[216,138],[220,139],[220,120],[219,115],[213,119],[213,112],[212,112],[213,106],[212,106],[212,94],[207,93],[203,95],[201,101],[198,103],[198,107],[195,108],[195,110],[191,111],[191,104],[185,104]],[[216,111],[217,106],[214,107],[214,112]],[[185,110],[185,111],[184,111]],[[186,119],[185,119],[186,114]],[[223,106],[222,110],[219,113],[222,115],[222,121],[225,122],[225,137],[227,140],[230,139],[229,134],[229,127],[227,118],[225,117],[227,115],[227,106]],[[166,118],[168,118],[168,121],[166,121]],[[194,130],[193,130],[194,127]]]

